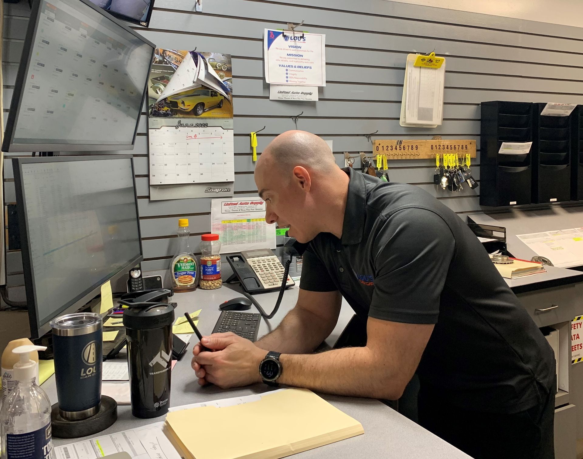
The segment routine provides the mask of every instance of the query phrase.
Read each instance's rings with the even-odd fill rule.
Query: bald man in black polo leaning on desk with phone
[[[265,220],[309,242],[297,305],[257,343],[203,337],[216,352],[195,346],[200,384],[396,400],[417,373],[419,422],[470,456],[554,457],[553,351],[461,218],[417,186],[340,169],[307,132],[273,140],[255,182]],[[366,345],[312,354],[342,296]]]

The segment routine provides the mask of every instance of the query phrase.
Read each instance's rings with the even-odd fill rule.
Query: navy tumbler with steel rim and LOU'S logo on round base
[[[99,411],[103,335],[101,316],[68,314],[51,320],[59,413],[69,421]]]

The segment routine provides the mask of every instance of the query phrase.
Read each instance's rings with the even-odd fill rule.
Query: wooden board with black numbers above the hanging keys
[[[389,160],[422,160],[435,158],[436,154],[458,153],[476,157],[475,140],[375,140],[373,154],[382,154]]]

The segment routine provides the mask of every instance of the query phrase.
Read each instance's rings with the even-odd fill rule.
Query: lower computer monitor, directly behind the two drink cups
[[[30,333],[142,261],[129,155],[13,158]]]

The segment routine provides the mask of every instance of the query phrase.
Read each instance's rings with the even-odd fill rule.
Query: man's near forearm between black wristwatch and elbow
[[[283,372],[279,383],[331,394],[396,400],[407,383],[399,377],[398,369],[379,363],[367,347],[285,354],[280,361]]]

